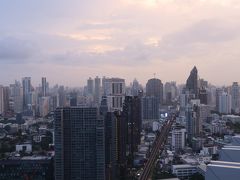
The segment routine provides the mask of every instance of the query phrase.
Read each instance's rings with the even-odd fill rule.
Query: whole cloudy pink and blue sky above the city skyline
[[[240,78],[239,0],[0,0],[0,84]]]

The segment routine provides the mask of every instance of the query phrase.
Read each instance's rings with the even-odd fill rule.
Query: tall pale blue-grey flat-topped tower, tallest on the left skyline
[[[29,104],[31,104],[31,77],[24,77],[22,79],[22,87],[23,87],[23,107],[26,109]]]

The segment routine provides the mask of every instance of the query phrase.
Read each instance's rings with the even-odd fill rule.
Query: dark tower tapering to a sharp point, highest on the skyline
[[[196,66],[192,69],[190,76],[186,82],[186,90],[190,91],[190,93],[195,94],[195,98],[198,98],[198,70]]]

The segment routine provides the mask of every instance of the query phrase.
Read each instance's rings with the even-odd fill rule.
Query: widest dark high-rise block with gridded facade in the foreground
[[[56,109],[55,179],[105,179],[104,123],[97,108]]]

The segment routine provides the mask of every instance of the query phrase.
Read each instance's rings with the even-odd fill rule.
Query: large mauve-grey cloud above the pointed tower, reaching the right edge
[[[181,31],[164,36],[159,42],[159,58],[177,59],[207,55],[212,48],[240,37],[239,24],[220,20],[201,20]]]

